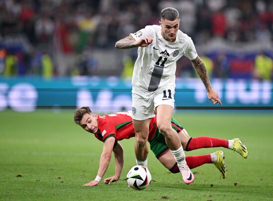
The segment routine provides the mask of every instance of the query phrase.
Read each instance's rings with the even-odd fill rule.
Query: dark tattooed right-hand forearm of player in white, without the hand
[[[205,68],[205,64],[200,59],[200,57],[197,57],[195,60],[192,60],[193,66],[197,73],[199,74],[201,80],[203,81],[205,88],[208,89],[211,85],[209,82],[208,74]]]

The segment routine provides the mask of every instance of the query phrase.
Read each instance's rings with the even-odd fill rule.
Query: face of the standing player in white
[[[161,35],[166,41],[169,42],[174,42],[176,39],[176,34],[179,29],[179,23],[180,19],[177,18],[173,21],[167,20],[167,19],[162,19],[159,21],[160,26],[162,27],[161,29]]]

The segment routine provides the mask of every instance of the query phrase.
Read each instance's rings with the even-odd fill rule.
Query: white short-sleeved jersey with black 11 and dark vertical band
[[[147,47],[138,47],[134,73],[133,91],[151,92],[166,86],[175,87],[176,62],[185,55],[190,60],[197,58],[192,39],[178,30],[176,41],[168,42],[161,35],[161,26],[151,25],[131,33],[135,40],[152,36]]]

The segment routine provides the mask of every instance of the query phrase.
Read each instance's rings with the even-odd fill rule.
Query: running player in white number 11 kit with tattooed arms
[[[147,166],[146,145],[150,118],[157,114],[157,127],[177,161],[183,181],[190,184],[194,175],[185,161],[185,153],[175,130],[171,127],[174,109],[176,62],[188,57],[207,90],[213,104],[222,105],[212,88],[206,68],[198,56],[192,39],[179,30],[179,12],[175,8],[161,11],[160,25],[146,26],[116,43],[116,48],[138,47],[132,79],[132,112],[136,132],[136,164]]]

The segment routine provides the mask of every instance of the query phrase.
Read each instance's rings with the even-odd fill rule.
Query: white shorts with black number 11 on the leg
[[[157,89],[153,92],[132,90],[132,118],[137,121],[150,119],[156,114],[159,105],[170,105],[174,108],[174,87]]]

